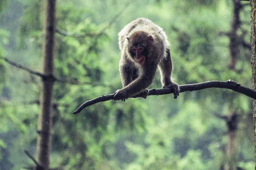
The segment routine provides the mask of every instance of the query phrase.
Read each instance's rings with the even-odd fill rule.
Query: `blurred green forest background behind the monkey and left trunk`
[[[205,89],[79,104],[122,87],[118,32],[145,17],[163,27],[179,85],[252,87],[250,6],[236,0],[59,0],[51,131],[58,169],[253,169],[252,99]],[[0,1],[0,169],[35,166],[44,1]],[[16,66],[4,61],[12,60]],[[161,88],[159,72],[148,89]]]

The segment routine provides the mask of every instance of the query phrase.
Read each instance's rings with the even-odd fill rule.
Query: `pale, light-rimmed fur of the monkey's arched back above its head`
[[[151,20],[148,20],[147,18],[138,18],[125,25],[124,29],[122,29],[118,33],[118,44],[120,50],[122,50],[122,48],[124,47],[126,37],[131,36],[136,31],[148,32],[148,34],[151,34],[156,41],[160,41],[157,43],[163,44],[164,47],[169,46],[167,36],[161,27],[154,24]]]

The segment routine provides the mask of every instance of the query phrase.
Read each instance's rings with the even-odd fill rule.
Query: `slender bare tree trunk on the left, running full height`
[[[36,157],[43,169],[49,169],[49,153],[51,149],[52,124],[52,89],[54,69],[54,31],[55,31],[55,0],[45,0],[44,43],[42,55],[44,67],[42,91],[40,96],[40,114],[38,115],[38,137]],[[39,167],[37,168],[39,169]]]

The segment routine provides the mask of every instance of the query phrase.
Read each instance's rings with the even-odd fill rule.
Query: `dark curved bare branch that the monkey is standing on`
[[[256,91],[252,89],[248,89],[247,87],[241,86],[239,83],[236,83],[235,81],[227,80],[227,81],[206,81],[203,83],[195,83],[195,84],[188,84],[188,85],[180,85],[180,93],[186,92],[186,91],[195,91],[195,90],[202,90],[202,89],[208,89],[208,88],[221,88],[221,89],[230,89],[235,92],[239,92],[241,94],[244,94],[248,97],[251,97],[253,99],[256,99]],[[152,95],[163,95],[163,94],[171,94],[173,93],[173,90],[170,88],[164,88],[164,89],[150,89],[148,90],[147,96]],[[108,94],[100,97],[96,97],[90,101],[86,101],[83,103],[79,108],[77,108],[76,111],[73,112],[73,114],[77,114],[80,111],[82,111],[87,106],[91,106],[92,104],[96,104],[103,101],[109,101],[111,99],[114,99],[115,94]],[[146,96],[146,97],[147,97]],[[140,96],[134,96],[132,98],[136,98]]]

